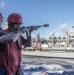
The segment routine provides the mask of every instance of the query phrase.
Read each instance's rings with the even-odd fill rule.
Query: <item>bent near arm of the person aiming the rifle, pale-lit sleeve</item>
[[[1,43],[13,43],[13,42],[16,42],[17,39],[22,35],[22,32],[21,31],[18,31],[17,33],[14,33],[14,34],[5,34],[5,35],[2,35],[0,37],[0,42]]]

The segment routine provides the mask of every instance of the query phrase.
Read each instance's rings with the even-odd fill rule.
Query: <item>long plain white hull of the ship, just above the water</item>
[[[22,55],[33,56],[33,57],[74,59],[74,52],[65,52],[65,51],[50,51],[50,52],[22,51]]]

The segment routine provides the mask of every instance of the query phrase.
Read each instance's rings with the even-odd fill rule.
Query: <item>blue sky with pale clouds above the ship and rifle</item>
[[[0,0],[0,12],[4,16],[2,28],[11,13],[21,14],[24,26],[49,24],[33,31],[33,37],[40,33],[47,38],[53,32],[60,36],[74,26],[74,0]]]

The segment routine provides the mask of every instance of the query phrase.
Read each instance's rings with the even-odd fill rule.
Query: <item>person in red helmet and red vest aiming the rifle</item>
[[[4,34],[0,36],[0,69],[3,71],[0,75],[19,75],[22,45],[30,46],[31,36],[27,39],[22,37],[20,28],[23,22],[20,14],[10,14],[7,21],[8,28],[2,30]]]

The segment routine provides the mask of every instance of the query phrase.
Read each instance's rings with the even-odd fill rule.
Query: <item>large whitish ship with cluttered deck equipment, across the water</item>
[[[48,58],[63,58],[74,59],[74,32],[67,32],[66,37],[55,37],[52,34],[49,40],[44,44],[41,41],[33,42],[34,47],[27,47],[22,50],[23,56],[48,57]],[[40,43],[40,44],[39,44]],[[39,47],[37,47],[39,46]],[[36,47],[36,48],[35,48]]]

